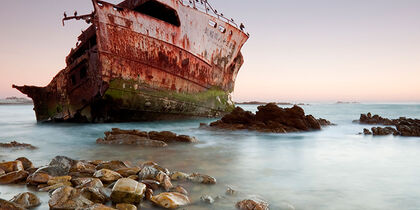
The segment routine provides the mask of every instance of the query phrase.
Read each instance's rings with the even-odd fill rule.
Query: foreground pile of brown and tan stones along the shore
[[[0,163],[0,185],[28,185],[49,192],[50,209],[140,209],[151,206],[176,209],[201,202],[213,204],[223,196],[190,198],[191,185],[215,185],[214,177],[200,173],[169,171],[157,163],[129,161],[74,160],[57,156],[42,167],[27,158]],[[231,188],[226,196],[236,196]],[[0,209],[23,210],[37,207],[41,201],[31,192],[23,192],[11,200],[0,198]],[[245,199],[232,203],[240,210],[266,210],[268,203]]]

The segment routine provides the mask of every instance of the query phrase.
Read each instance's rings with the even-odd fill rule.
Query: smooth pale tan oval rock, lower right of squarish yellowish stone
[[[156,205],[167,209],[175,209],[190,204],[190,199],[187,196],[177,192],[161,193],[153,196],[151,201]]]

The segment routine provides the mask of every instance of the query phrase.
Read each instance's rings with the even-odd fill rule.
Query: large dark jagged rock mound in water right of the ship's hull
[[[271,133],[290,133],[321,130],[322,126],[332,125],[325,119],[316,119],[305,115],[305,111],[295,105],[292,108],[280,108],[274,103],[259,106],[256,114],[236,107],[230,114],[209,126],[202,128],[225,130],[251,130]]]

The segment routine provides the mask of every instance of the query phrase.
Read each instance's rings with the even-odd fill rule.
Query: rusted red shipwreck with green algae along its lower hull
[[[37,121],[121,122],[217,117],[231,93],[248,40],[243,24],[207,0],[92,0],[89,27],[46,87],[16,86]]]

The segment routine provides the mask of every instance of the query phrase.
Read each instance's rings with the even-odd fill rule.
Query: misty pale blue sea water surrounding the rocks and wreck
[[[244,105],[255,111],[257,106]],[[0,160],[25,156],[35,165],[57,155],[92,160],[152,160],[170,170],[200,172],[217,178],[214,186],[186,185],[195,203],[186,209],[235,209],[234,203],[258,197],[271,209],[353,210],[420,209],[420,138],[358,135],[368,126],[352,123],[361,113],[383,117],[420,118],[417,104],[312,104],[307,114],[337,126],[294,134],[226,132],[199,129],[214,119],[120,123],[37,124],[30,105],[0,106],[0,142],[30,143],[39,149],[0,150]],[[96,145],[113,127],[169,130],[197,137],[199,144],[167,148]],[[240,192],[212,206],[201,195],[224,195],[228,186]],[[0,197],[31,191],[25,186],[0,185]],[[48,194],[37,193],[48,208]],[[154,209],[145,206],[143,209]]]

